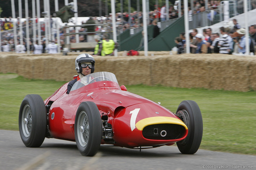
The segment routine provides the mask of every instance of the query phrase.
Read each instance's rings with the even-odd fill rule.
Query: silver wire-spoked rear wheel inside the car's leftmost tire
[[[26,138],[29,137],[32,127],[32,117],[29,105],[25,105],[22,111],[22,131]]]

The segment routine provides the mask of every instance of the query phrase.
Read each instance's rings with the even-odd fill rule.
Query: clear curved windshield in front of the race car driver
[[[87,84],[91,84],[98,81],[114,81],[118,83],[115,75],[111,72],[94,72],[92,74],[84,76],[83,78],[75,82],[70,91],[79,89],[83,86],[86,86]]]

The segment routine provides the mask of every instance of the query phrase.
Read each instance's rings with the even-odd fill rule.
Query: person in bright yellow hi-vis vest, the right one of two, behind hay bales
[[[108,35],[103,35],[103,40],[102,43],[99,44],[99,51],[98,54],[101,54],[101,56],[106,56],[106,55],[113,55],[114,49],[118,46],[116,42],[113,40],[107,39]]]

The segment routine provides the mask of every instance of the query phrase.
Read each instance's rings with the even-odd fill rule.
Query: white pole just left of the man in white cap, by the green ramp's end
[[[184,0],[184,24],[185,24],[185,38],[186,38],[186,53],[190,53],[190,44],[189,44],[189,28],[188,28],[188,0]]]

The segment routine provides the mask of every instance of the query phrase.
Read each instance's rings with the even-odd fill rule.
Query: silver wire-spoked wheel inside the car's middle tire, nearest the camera
[[[78,141],[82,147],[85,147],[89,139],[89,121],[87,114],[80,112],[77,120],[77,135]]]

